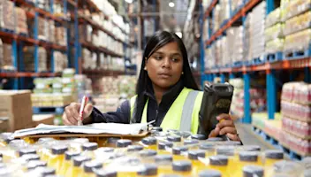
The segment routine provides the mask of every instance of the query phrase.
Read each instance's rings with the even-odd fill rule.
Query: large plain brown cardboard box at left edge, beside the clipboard
[[[30,90],[0,90],[0,118],[9,119],[8,131],[33,127]]]

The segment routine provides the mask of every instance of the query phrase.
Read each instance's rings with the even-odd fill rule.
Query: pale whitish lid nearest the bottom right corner
[[[273,169],[276,173],[294,173],[300,171],[303,168],[300,164],[292,161],[281,160],[277,161],[273,165]]]

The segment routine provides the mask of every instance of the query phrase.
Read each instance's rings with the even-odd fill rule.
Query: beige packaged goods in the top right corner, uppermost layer
[[[284,9],[284,19],[290,19],[302,12],[310,11],[311,1],[310,0],[296,0],[289,1]]]

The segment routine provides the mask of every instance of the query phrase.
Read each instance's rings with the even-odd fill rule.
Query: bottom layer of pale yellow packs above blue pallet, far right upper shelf
[[[284,41],[284,51],[289,50],[305,50],[308,49],[311,43],[311,28],[286,35]]]

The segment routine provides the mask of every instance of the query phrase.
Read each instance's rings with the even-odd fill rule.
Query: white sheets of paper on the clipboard
[[[95,123],[87,126],[51,126],[40,124],[34,128],[21,129],[14,132],[13,137],[42,134],[114,134],[114,135],[139,135],[148,131],[148,125],[154,121],[140,124]]]

